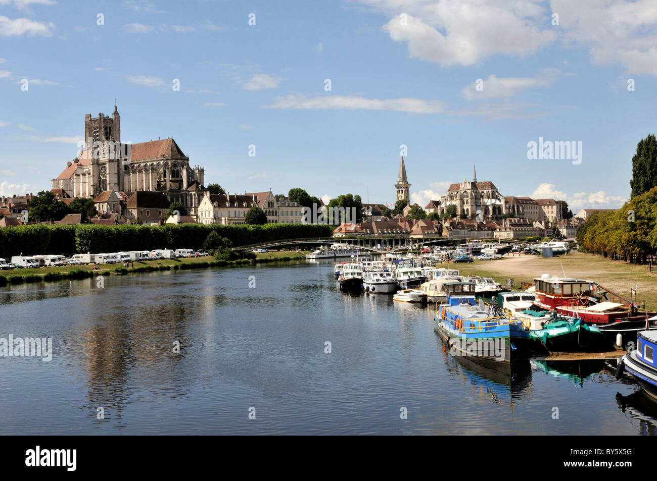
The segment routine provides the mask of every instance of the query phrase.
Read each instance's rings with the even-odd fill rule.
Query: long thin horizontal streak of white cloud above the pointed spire
[[[439,114],[444,112],[445,104],[440,100],[421,98],[365,98],[358,96],[327,95],[307,98],[302,95],[288,95],[276,98],[267,108],[296,108],[315,110],[388,110],[410,114]]]

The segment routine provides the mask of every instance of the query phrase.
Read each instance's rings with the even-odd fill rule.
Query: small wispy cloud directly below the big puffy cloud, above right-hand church
[[[510,97],[524,89],[549,87],[562,72],[553,68],[544,68],[535,77],[497,77],[494,73],[481,83],[472,82],[463,87],[466,100],[484,100],[496,97]],[[479,87],[480,90],[477,90]]]

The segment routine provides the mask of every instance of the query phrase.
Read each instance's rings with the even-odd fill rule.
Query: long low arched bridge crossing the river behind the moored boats
[[[396,236],[362,236],[354,238],[335,238],[335,237],[316,237],[316,238],[301,238],[301,239],[281,239],[275,241],[266,241],[257,244],[239,245],[233,249],[246,249],[252,251],[253,249],[280,249],[281,247],[320,247],[321,245],[330,245],[334,243],[349,244],[355,247],[360,247],[366,251],[374,253],[388,253],[397,252],[408,249],[417,249],[423,245],[441,244],[441,243],[463,243],[465,241],[472,241],[475,238],[461,238],[461,237],[441,237],[441,236],[424,236],[422,238],[408,238]],[[482,242],[505,242],[516,244],[533,245],[531,242],[519,241],[516,239],[491,239],[491,238],[477,238]]]

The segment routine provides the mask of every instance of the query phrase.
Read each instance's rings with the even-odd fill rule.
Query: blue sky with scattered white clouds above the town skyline
[[[657,3],[580,3],[0,0],[0,195],[49,189],[117,98],[122,140],[171,136],[231,193],[392,203],[405,144],[422,207],[473,164],[505,196],[618,207],[657,131]],[[539,137],[581,163],[528,159]]]

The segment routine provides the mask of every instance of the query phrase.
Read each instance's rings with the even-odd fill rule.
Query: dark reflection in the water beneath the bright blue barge
[[[532,394],[532,367],[528,360],[497,362],[474,356],[452,356],[443,339],[442,346],[447,370],[459,377],[462,385],[472,386],[472,393],[480,401],[509,404],[514,412],[518,402],[527,402]]]

